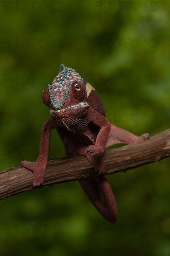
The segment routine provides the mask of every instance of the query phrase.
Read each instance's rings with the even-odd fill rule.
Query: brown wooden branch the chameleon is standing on
[[[105,152],[105,174],[136,168],[170,156],[170,129],[149,140]],[[83,156],[48,160],[42,187],[96,176],[92,164]],[[22,166],[0,173],[0,200],[33,189],[33,172]]]

